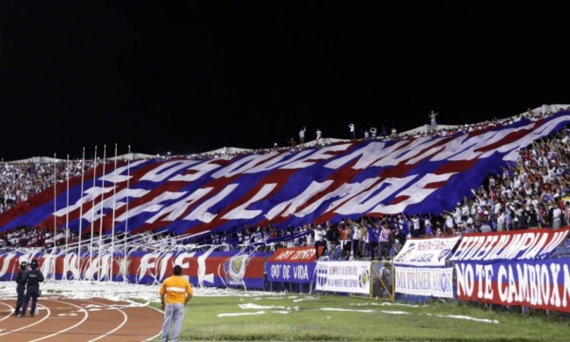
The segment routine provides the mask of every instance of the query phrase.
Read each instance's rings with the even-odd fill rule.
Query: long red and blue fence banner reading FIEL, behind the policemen
[[[239,254],[238,252],[131,252],[126,261],[122,255],[83,253],[78,261],[75,253],[50,255],[43,253],[5,253],[0,255],[0,281],[15,280],[20,262],[39,261],[39,269],[47,278],[109,280],[132,283],[160,283],[172,275],[173,265],[182,266],[182,276],[192,285],[239,286],[264,289],[263,265],[270,252]]]

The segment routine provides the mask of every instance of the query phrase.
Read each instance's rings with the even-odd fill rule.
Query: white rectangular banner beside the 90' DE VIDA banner
[[[318,261],[316,289],[370,294],[369,261]]]

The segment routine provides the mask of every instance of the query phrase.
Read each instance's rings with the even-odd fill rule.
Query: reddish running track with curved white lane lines
[[[15,298],[0,298],[0,341],[145,341],[162,328],[162,312],[107,299],[40,297],[34,317],[14,315]]]

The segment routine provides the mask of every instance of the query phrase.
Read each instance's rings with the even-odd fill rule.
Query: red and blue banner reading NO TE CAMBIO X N
[[[457,299],[570,312],[570,258],[457,262]]]

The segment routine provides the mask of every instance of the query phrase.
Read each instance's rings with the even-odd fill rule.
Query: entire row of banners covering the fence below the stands
[[[162,282],[172,265],[194,286],[312,292],[404,301],[467,300],[570,312],[570,227],[408,239],[390,262],[315,260],[314,247],[272,252],[129,252],[121,255],[11,252],[0,281],[38,258],[52,280]],[[111,262],[113,260],[113,262]],[[288,288],[287,288],[288,287]]]

